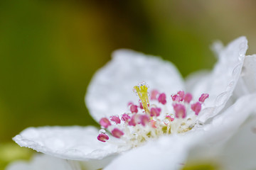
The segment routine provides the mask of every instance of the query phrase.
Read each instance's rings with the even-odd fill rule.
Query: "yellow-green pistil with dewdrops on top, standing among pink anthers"
[[[144,108],[144,111],[146,113],[149,113],[149,96],[148,96],[148,87],[146,85],[142,86],[134,86],[134,89],[136,90],[139,99],[142,101],[142,106]]]

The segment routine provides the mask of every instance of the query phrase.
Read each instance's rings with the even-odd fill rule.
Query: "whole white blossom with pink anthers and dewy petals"
[[[213,144],[224,143],[255,110],[251,104],[255,96],[250,95],[255,91],[255,77],[250,78],[255,76],[255,62],[244,64],[246,50],[245,37],[219,47],[213,71],[196,73],[186,82],[171,62],[117,50],[92,78],[85,96],[100,131],[90,126],[27,128],[14,141],[80,162],[87,169],[107,164],[106,169],[178,169],[193,147],[210,143],[209,138],[215,139]],[[234,91],[247,96],[234,102],[236,98],[230,98]]]

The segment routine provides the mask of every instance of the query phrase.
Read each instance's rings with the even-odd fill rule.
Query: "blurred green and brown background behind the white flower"
[[[96,125],[84,96],[113,50],[159,55],[184,77],[213,67],[213,40],[245,35],[256,53],[255,7],[253,0],[1,0],[0,154],[17,153],[2,162],[21,157],[11,137],[24,128]]]

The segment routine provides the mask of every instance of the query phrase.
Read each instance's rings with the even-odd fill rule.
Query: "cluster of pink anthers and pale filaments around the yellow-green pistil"
[[[142,144],[150,138],[160,135],[187,132],[196,124],[196,116],[200,113],[208,94],[202,94],[198,101],[192,102],[193,96],[184,91],[171,95],[171,111],[168,111],[166,94],[152,90],[144,81],[134,86],[134,93],[139,96],[139,104],[128,103],[129,112],[101,118],[102,129],[97,140],[106,142],[110,139],[106,130],[113,137],[122,138],[132,147]],[[150,101],[150,103],[149,103]],[[171,114],[174,113],[174,114]]]

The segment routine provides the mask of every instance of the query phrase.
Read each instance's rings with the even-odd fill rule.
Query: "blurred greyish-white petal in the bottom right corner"
[[[225,145],[220,161],[225,169],[256,169],[256,117],[251,117],[245,125]]]

